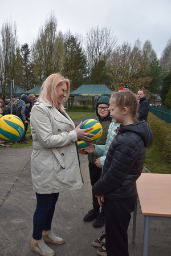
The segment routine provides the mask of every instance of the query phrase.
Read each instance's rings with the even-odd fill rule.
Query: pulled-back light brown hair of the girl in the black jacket
[[[119,91],[119,92],[112,92],[111,101],[115,100],[115,104],[120,109],[124,107],[129,108],[130,113],[133,116],[133,120],[136,122],[138,117],[138,101],[137,97],[131,91]]]

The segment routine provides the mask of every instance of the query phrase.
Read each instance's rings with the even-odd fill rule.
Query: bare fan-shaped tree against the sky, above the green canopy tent
[[[93,84],[104,83],[107,76],[107,63],[117,44],[111,29],[92,27],[86,36],[86,54],[89,80]]]

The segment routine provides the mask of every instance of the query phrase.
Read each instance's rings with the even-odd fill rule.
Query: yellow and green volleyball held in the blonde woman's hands
[[[87,119],[86,121],[83,121],[80,129],[87,129],[87,128],[91,128],[91,130],[89,130],[86,133],[92,133],[93,136],[91,137],[92,140],[88,140],[89,143],[93,143],[96,140],[99,140],[102,133],[103,133],[103,128],[101,126],[101,124],[99,123],[99,121],[95,120],[95,119]]]

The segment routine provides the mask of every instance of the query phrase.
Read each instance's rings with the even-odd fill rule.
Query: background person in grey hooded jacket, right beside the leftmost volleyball
[[[21,99],[18,101],[17,107],[17,116],[23,121],[23,124],[26,125],[28,121],[26,120],[26,102],[28,101],[28,96],[26,94],[21,95]],[[25,141],[25,133],[20,139],[20,144],[27,144]]]

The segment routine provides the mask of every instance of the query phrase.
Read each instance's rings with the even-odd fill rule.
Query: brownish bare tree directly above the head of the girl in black
[[[109,66],[112,90],[118,90],[124,84],[129,84],[133,92],[140,87],[148,88],[149,65],[146,64],[139,42],[133,48],[128,42],[118,46],[112,54]]]

